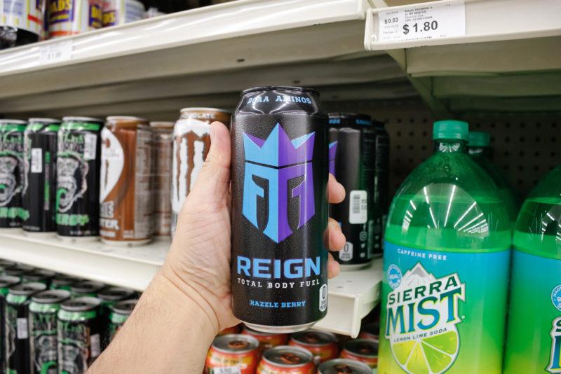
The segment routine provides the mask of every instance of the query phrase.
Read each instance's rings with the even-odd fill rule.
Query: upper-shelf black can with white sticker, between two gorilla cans
[[[23,135],[22,228],[53,233],[57,185],[57,134],[60,120],[29,118]]]

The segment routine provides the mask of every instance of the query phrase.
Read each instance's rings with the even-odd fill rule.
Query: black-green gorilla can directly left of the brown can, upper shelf
[[[65,117],[58,131],[56,223],[63,239],[100,235],[99,118]]]

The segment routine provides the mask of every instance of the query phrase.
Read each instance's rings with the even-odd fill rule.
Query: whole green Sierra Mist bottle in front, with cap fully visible
[[[511,223],[467,138],[467,123],[436,122],[435,153],[393,199],[380,374],[501,373]]]

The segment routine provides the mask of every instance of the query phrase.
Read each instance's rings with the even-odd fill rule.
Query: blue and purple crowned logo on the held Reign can
[[[314,137],[315,132],[312,132],[290,140],[278,123],[266,139],[243,133],[245,178],[242,212],[253,226],[259,228],[257,201],[258,198],[268,201],[269,216],[262,231],[277,243],[292,235],[288,216],[293,199],[298,199],[299,207],[296,229],[304,226],[316,213],[311,162]],[[259,183],[262,185],[259,186],[259,179],[267,183]]]

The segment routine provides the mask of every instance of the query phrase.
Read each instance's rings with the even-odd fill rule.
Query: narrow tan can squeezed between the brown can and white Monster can
[[[154,130],[154,235],[171,232],[171,164],[173,154],[173,122],[151,122]]]

